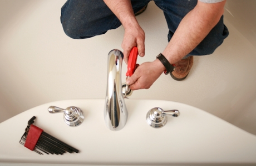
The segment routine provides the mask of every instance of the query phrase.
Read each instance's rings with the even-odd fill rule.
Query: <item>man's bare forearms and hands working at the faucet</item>
[[[104,0],[107,6],[115,13],[125,29],[122,48],[124,60],[127,64],[129,53],[133,46],[137,46],[139,55],[145,54],[145,34],[135,18],[131,1]],[[219,3],[203,3],[198,1],[196,7],[181,20],[173,37],[162,52],[170,64],[174,64],[188,55],[219,22],[224,12],[225,1]],[[156,59],[149,63],[141,64],[134,74],[126,80],[131,90],[149,89],[155,80],[165,70],[164,65]]]

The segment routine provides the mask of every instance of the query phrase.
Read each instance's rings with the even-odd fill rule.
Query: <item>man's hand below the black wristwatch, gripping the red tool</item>
[[[158,77],[163,74],[164,70],[163,64],[158,59],[143,63],[126,80],[126,84],[130,85],[131,90],[149,89]]]

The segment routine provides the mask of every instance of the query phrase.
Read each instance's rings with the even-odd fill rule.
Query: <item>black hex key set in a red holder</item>
[[[35,119],[36,117],[33,116],[28,121],[28,126],[26,127],[19,143],[38,154],[43,154],[43,152],[46,154],[79,152],[76,148],[71,147],[65,142],[62,142],[59,139],[44,132],[41,128],[33,125]]]

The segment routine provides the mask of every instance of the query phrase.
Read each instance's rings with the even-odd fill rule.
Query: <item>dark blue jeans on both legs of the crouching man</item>
[[[131,0],[134,13],[140,11],[150,1]],[[181,19],[196,6],[197,0],[154,0],[154,2],[164,12],[169,28],[168,41],[170,41]],[[121,25],[120,20],[102,0],[68,0],[61,8],[61,23],[64,32],[73,39],[91,38]],[[228,34],[222,16],[205,39],[185,58],[191,55],[212,54]]]

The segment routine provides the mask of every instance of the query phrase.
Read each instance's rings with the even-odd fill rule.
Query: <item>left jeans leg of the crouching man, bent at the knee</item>
[[[149,1],[131,1],[134,12]],[[61,8],[64,32],[73,39],[85,39],[120,27],[121,22],[102,0],[68,0]]]

